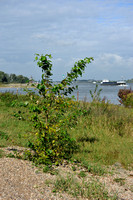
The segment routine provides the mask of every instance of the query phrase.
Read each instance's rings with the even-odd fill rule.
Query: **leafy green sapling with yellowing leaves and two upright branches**
[[[35,61],[42,69],[42,80],[37,85],[38,101],[32,98],[30,112],[32,121],[37,130],[34,142],[29,141],[29,147],[34,150],[34,162],[59,164],[63,159],[69,159],[77,149],[76,141],[70,137],[67,127],[76,123],[77,115],[82,114],[78,104],[72,98],[65,98],[75,87],[71,86],[73,80],[82,76],[87,64],[93,58],[85,58],[74,64],[70,73],[67,73],[61,83],[54,84],[51,76],[51,55],[36,54]],[[68,114],[72,110],[72,115]],[[74,112],[75,110],[75,112]]]

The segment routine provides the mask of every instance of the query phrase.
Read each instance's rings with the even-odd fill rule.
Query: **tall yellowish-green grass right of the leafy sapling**
[[[80,117],[71,131],[80,144],[74,158],[83,163],[131,165],[133,109],[104,102],[81,103],[81,106],[89,114]]]

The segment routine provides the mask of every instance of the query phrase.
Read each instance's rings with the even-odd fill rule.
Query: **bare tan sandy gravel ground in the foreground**
[[[13,152],[14,148],[23,151],[21,147],[1,148],[6,154]],[[122,168],[119,163],[113,167],[113,174],[105,174],[103,176],[94,176],[87,173],[87,177],[97,178],[105,185],[109,194],[117,194],[118,200],[133,200],[133,172]],[[72,171],[71,165],[59,166],[58,170],[61,174],[75,173],[78,177],[81,168],[76,167],[76,171]],[[77,175],[76,175],[77,174]],[[46,181],[54,181],[56,175],[43,173],[31,162],[16,158],[0,158],[0,200],[76,200],[86,198],[75,198],[67,193],[53,193],[53,186],[48,187]],[[123,179],[124,184],[114,181],[115,179]]]

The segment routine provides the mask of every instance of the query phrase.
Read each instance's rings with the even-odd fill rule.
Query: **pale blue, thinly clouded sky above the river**
[[[132,79],[133,0],[0,0],[0,71],[40,80],[35,53],[56,81],[85,57],[79,79]]]

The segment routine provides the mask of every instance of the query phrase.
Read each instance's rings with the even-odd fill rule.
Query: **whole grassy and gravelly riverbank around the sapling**
[[[34,102],[42,108],[41,99],[35,96]],[[65,121],[79,146],[77,152],[62,165],[35,167],[23,154],[36,133],[29,112],[32,98],[0,94],[2,200],[132,199],[133,109],[104,102],[80,103],[69,107],[66,118],[71,115],[73,119]],[[80,115],[75,114],[79,107]]]

